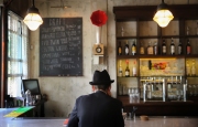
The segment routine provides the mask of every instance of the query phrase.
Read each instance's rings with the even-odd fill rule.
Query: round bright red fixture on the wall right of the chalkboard
[[[90,19],[91,19],[92,24],[97,27],[101,27],[106,24],[108,17],[106,12],[98,10],[98,11],[92,12]]]

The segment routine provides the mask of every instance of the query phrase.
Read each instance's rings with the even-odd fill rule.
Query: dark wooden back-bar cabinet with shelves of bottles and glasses
[[[156,8],[113,7],[117,34],[117,97],[122,100],[125,112],[138,106],[138,115],[198,115],[198,4],[168,6],[174,20],[166,28],[161,28],[153,21]],[[175,45],[174,54],[170,51],[172,43]],[[129,54],[125,54],[127,44]],[[133,44],[136,46],[135,53]],[[127,63],[129,76],[125,76]],[[166,80],[165,102],[162,97],[162,83],[157,82],[162,80]],[[148,84],[146,102],[142,102],[144,83]],[[187,84],[185,102],[184,84]],[[138,88],[140,103],[130,103],[128,94],[131,88]]]

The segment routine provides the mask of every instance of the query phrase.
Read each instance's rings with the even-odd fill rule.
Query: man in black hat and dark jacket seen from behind
[[[106,70],[95,71],[94,93],[76,99],[67,127],[124,127],[122,103],[111,97],[113,82]]]

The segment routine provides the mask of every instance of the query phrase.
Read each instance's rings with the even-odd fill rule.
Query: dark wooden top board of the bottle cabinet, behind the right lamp
[[[153,20],[157,6],[113,7],[116,21]],[[198,18],[198,4],[168,6],[174,19],[194,20]]]

